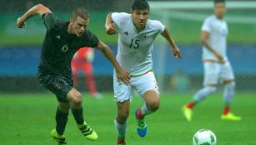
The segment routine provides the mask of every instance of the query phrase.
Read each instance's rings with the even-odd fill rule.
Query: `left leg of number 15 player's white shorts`
[[[115,102],[123,102],[133,99],[132,87],[126,85],[123,81],[118,81],[116,74],[113,75],[113,92]]]

